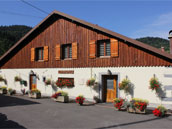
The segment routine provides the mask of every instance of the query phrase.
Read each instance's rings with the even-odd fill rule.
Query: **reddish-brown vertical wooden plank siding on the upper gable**
[[[89,42],[91,40],[117,39],[119,56],[90,58]],[[56,45],[77,42],[77,59],[56,60]],[[79,23],[64,18],[57,18],[44,28],[24,40],[9,60],[1,68],[74,68],[74,67],[131,67],[131,66],[170,66],[165,57],[146,49],[124,42]],[[31,48],[48,46],[47,61],[32,61]]]

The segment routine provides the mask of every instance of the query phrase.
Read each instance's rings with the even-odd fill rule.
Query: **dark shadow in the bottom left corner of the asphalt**
[[[16,128],[16,129],[26,129],[24,126],[14,122],[12,120],[8,120],[5,114],[0,113],[0,128]]]

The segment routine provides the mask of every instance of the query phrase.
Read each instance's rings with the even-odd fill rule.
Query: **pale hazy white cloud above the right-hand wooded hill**
[[[162,14],[150,24],[142,26],[136,30],[130,37],[139,38],[145,36],[168,38],[168,32],[172,29],[172,12]]]

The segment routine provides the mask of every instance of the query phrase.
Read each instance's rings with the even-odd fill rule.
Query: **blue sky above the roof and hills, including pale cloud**
[[[51,13],[57,10],[122,35],[168,38],[172,0],[25,0]],[[0,0],[0,25],[34,27],[47,14],[21,0]]]

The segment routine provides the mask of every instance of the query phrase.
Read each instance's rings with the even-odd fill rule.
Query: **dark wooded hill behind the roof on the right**
[[[143,37],[143,38],[137,38],[136,40],[143,42],[145,44],[148,44],[150,46],[156,47],[156,48],[161,48],[164,47],[166,52],[169,52],[170,47],[169,47],[169,40],[159,38],[159,37]]]

